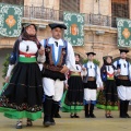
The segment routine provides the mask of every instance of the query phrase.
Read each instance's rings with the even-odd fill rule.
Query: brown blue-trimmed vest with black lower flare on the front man
[[[58,59],[55,59],[53,44],[48,44],[49,39],[45,40],[45,56],[46,61],[44,63],[43,78],[50,78],[52,80],[59,79],[60,81],[66,80],[64,73],[61,73],[62,66],[66,64],[68,55],[68,43],[63,40],[63,46],[59,46]]]

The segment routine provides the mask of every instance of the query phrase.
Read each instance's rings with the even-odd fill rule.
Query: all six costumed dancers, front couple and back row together
[[[94,63],[96,53],[87,52],[88,61],[82,64],[81,56],[74,55],[71,44],[61,38],[67,26],[51,23],[49,27],[52,37],[38,41],[37,26],[24,24],[9,59],[7,83],[0,93],[0,112],[17,119],[16,129],[23,128],[23,118],[32,127],[43,111],[43,124],[55,126],[60,102],[62,111],[71,112],[71,118],[79,118],[78,112],[83,109],[85,118],[95,118],[95,105],[106,110],[106,118],[112,118],[111,110],[118,107],[120,118],[130,118],[129,50],[120,49],[120,59],[114,63],[111,56],[104,57],[102,69]]]

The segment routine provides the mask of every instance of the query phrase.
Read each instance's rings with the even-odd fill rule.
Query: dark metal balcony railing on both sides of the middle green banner
[[[23,17],[63,21],[63,11],[44,7],[24,7]],[[85,14],[85,24],[116,27],[116,17],[102,14]]]

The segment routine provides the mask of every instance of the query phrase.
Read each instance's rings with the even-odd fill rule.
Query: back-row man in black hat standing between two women
[[[86,69],[86,75],[83,78],[84,82],[84,105],[85,118],[95,118],[93,114],[96,104],[97,88],[103,88],[100,79],[100,71],[97,64],[93,62],[95,52],[87,52],[87,63],[83,66]]]

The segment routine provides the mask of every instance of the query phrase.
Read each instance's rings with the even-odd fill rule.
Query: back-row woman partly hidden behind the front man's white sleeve
[[[83,109],[83,69],[80,63],[80,55],[75,55],[75,71],[69,71],[69,79],[67,81],[68,90],[62,98],[62,111],[71,112],[71,118],[79,118],[78,114]]]

